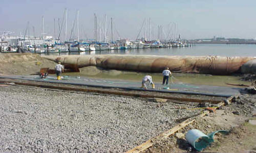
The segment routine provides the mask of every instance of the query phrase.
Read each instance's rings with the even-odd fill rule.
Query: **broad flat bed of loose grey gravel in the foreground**
[[[199,113],[173,103],[0,86],[0,152],[123,152]]]

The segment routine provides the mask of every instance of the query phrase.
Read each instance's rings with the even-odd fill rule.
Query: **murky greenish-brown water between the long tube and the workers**
[[[70,72],[63,73],[63,75],[68,76],[83,76],[86,78],[98,78],[98,79],[109,79],[114,81],[135,81],[140,82],[145,75],[151,75],[155,83],[161,84],[163,76],[161,73],[144,73],[144,72],[127,72],[127,71],[102,71],[100,73],[92,75],[92,73],[79,73],[79,72]],[[231,86],[229,84],[244,84],[250,85],[250,82],[241,81],[240,77],[235,75],[207,75],[207,74],[190,74],[190,73],[174,73],[173,82],[175,84],[193,84],[193,85],[210,85],[210,86],[226,86],[226,87],[239,87],[240,86]]]

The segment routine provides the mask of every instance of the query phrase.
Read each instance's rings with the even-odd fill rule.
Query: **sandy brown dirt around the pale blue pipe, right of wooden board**
[[[216,113],[200,117],[192,125],[184,127],[166,140],[155,141],[153,147],[143,152],[198,152],[185,140],[186,132],[191,129],[198,129],[205,134],[217,130],[229,131],[227,136],[217,135],[215,142],[203,152],[255,152],[256,125],[248,123],[248,120],[256,119],[252,118],[253,110],[249,109],[255,107],[256,95],[241,96],[240,99],[217,110]],[[244,104],[239,101],[244,101]]]

